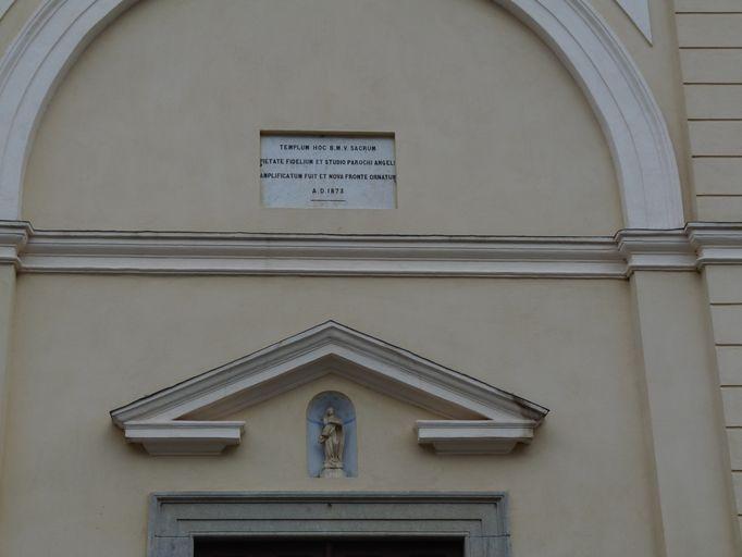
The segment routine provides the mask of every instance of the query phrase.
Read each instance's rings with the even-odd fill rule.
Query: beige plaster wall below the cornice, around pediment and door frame
[[[354,488],[504,490],[516,555],[654,556],[630,308],[614,281],[22,275],[0,554],[144,555],[152,491]],[[329,318],[553,411],[531,447],[461,458],[416,444],[425,411],[332,377],[246,410],[222,457],[152,458],[110,422]],[[357,480],[305,473],[302,412],[331,387],[356,404]]]

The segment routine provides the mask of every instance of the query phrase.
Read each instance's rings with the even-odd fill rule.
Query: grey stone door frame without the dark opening
[[[509,557],[502,492],[175,492],[149,499],[148,557],[194,557],[198,536],[447,537]]]

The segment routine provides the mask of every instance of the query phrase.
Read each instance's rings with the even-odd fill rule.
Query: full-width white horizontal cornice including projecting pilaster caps
[[[22,273],[627,278],[742,264],[742,223],[614,237],[37,231],[0,221]]]

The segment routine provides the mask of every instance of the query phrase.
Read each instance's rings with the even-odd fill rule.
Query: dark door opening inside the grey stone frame
[[[197,537],[194,557],[463,557],[463,540]]]

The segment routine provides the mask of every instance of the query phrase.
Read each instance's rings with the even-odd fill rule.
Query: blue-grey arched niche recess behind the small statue
[[[324,466],[324,446],[320,435],[325,428],[325,413],[332,408],[342,422],[344,447],[343,471],[345,478],[358,475],[358,432],[356,408],[353,401],[337,391],[325,391],[312,398],[307,406],[307,472],[310,478],[321,478]]]

